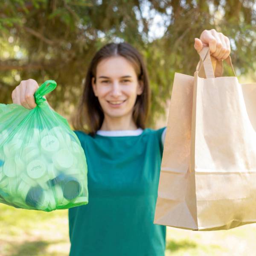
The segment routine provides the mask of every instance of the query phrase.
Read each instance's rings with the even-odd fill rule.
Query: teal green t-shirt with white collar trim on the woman
[[[164,256],[153,224],[164,128],[137,136],[76,131],[87,159],[87,205],[69,209],[70,256]]]

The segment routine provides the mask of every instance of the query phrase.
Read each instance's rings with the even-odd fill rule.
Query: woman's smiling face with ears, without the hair
[[[99,99],[104,115],[130,116],[137,98],[143,92],[132,64],[122,56],[103,59],[96,67],[93,92]]]

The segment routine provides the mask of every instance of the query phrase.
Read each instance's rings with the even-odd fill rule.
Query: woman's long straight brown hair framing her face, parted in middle
[[[143,81],[143,93],[137,95],[134,104],[133,119],[138,128],[145,129],[150,108],[150,87],[143,58],[140,52],[128,43],[110,43],[99,49],[90,62],[79,106],[76,115],[72,119],[75,130],[94,135],[101,128],[104,113],[98,98],[93,93],[92,78],[94,77],[96,80],[96,67],[99,62],[113,56],[122,56],[130,61],[134,66],[138,80]]]

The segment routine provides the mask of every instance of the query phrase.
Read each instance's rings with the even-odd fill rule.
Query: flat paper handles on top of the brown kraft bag
[[[216,75],[216,77],[222,76],[223,61],[217,60],[216,67],[215,67],[215,75],[214,75],[209,47],[204,47],[201,50],[201,52],[199,52],[199,55],[200,55],[201,60],[199,62],[199,68],[197,69],[197,71],[200,71],[202,68],[202,65],[204,65],[204,72],[205,72],[206,78],[215,78],[215,75]],[[228,56],[225,59],[225,61],[232,68],[234,76],[236,76],[230,56]]]

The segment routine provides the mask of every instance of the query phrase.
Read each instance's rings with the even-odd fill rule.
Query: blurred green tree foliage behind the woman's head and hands
[[[253,4],[249,0],[1,1],[0,102],[12,102],[12,90],[20,80],[32,78],[40,84],[54,79],[58,89],[48,100],[69,116],[94,53],[109,42],[127,41],[143,53],[148,67],[152,126],[164,113],[174,73],[194,73],[198,62],[194,38],[204,29],[215,28],[231,39],[238,75],[253,69]],[[160,37],[151,36],[154,17],[161,17],[165,27]]]

